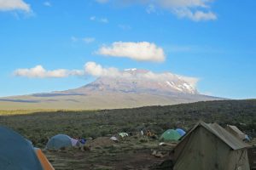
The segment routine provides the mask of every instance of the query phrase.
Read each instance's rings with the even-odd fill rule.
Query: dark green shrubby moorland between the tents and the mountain
[[[34,113],[32,113],[34,112]],[[150,129],[160,135],[168,128],[188,130],[199,120],[233,124],[256,136],[256,100],[223,100],[184,105],[149,106],[102,111],[0,111],[0,124],[32,140],[38,147],[56,133],[96,138]],[[21,115],[16,115],[21,114]],[[254,129],[254,130],[253,130]]]

